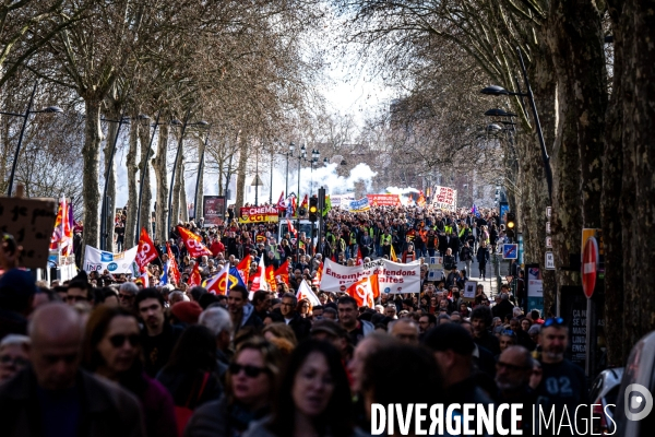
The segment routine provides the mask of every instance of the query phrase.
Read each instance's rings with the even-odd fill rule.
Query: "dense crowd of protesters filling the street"
[[[315,251],[302,235],[278,243],[274,225],[186,227],[212,257],[190,259],[171,231],[179,284],[158,283],[162,246],[147,287],[109,272],[35,283],[0,248],[3,435],[366,436],[373,403],[510,402],[527,413],[588,403],[582,369],[564,358],[562,319],[524,314],[507,285],[493,299],[481,284],[462,297],[469,270],[457,257],[476,259],[484,276],[503,237],[493,213],[335,209]],[[424,264],[420,293],[382,294],[373,308],[315,284],[320,305],[297,298],[325,257],[353,264],[358,253],[390,258],[390,246],[405,262],[443,256],[443,277],[428,281]],[[288,259],[288,284],[226,295],[186,286],[195,263],[210,277],[243,257]],[[533,421],[524,415],[523,435]]]

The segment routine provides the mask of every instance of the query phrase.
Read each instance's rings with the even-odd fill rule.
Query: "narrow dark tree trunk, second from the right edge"
[[[605,246],[605,326],[607,341],[607,364],[622,366],[629,347],[623,342],[623,239],[622,220],[618,206],[622,201],[623,170],[623,106],[620,101],[623,69],[623,35],[619,23],[622,0],[610,0],[609,16],[614,35],[614,81],[611,101],[608,106],[605,129],[605,152],[603,157],[603,243]],[[626,350],[626,351],[624,351]]]

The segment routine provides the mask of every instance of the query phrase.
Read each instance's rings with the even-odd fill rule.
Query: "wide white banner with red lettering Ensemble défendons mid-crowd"
[[[420,263],[402,264],[385,259],[372,262],[345,267],[325,259],[321,290],[325,292],[346,292],[348,287],[361,277],[378,275],[380,294],[388,293],[419,293],[420,292]]]

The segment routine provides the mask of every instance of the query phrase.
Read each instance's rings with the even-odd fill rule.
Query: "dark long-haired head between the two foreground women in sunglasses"
[[[205,402],[217,400],[223,393],[216,361],[216,339],[212,332],[200,324],[187,328],[174,347],[168,364],[157,375],[157,380],[172,395],[181,435],[192,412]]]

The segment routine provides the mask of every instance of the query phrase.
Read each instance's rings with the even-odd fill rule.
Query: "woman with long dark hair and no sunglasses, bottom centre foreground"
[[[300,343],[278,387],[273,415],[245,437],[354,436],[348,378],[332,344]]]

